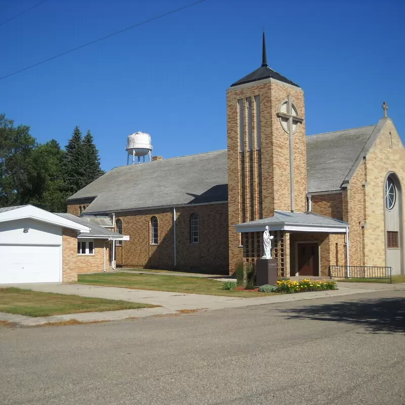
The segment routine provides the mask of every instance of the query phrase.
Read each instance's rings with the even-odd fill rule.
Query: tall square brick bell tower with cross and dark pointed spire
[[[304,92],[267,65],[264,33],[261,66],[227,90],[227,136],[232,267],[242,257],[235,224],[307,204]]]

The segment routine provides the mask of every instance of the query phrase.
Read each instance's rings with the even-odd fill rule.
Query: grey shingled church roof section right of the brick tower
[[[308,192],[340,190],[376,127],[307,136]]]

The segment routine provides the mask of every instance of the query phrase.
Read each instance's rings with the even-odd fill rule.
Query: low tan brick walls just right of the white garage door
[[[85,239],[83,239],[85,240]],[[62,235],[62,281],[77,281],[77,274],[104,270],[104,239],[94,239],[94,255],[77,254],[77,232],[63,229]],[[105,263],[108,270],[108,243],[105,244]]]

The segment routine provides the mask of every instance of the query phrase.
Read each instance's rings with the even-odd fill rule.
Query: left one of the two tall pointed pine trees
[[[85,148],[79,127],[75,127],[65,149],[63,165],[65,190],[68,195],[72,195],[89,184],[87,182]]]

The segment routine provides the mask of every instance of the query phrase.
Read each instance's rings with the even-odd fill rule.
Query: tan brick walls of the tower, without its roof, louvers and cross
[[[277,112],[288,95],[301,117],[305,117],[304,94],[299,88],[279,82],[253,83],[252,86],[228,89],[228,218],[229,272],[242,258],[240,235],[233,225],[271,217],[274,210],[290,210],[289,134],[281,127]],[[261,149],[239,152],[238,100],[260,95]],[[257,120],[253,105],[253,133]],[[245,119],[245,125],[247,125]],[[245,129],[245,145],[247,145]],[[287,174],[287,175],[286,175]],[[306,211],[306,139],[305,121],[294,135],[295,210]],[[253,187],[253,190],[250,189]],[[253,206],[253,207],[252,207]],[[287,248],[288,249],[288,248]],[[288,252],[286,252],[288,254]]]

